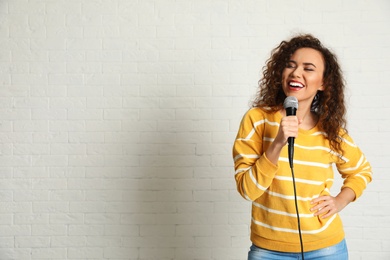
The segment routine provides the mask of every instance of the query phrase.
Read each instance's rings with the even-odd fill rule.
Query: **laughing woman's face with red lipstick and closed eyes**
[[[291,55],[282,73],[282,86],[286,96],[295,96],[300,105],[311,105],[317,91],[324,90],[325,62],[321,52],[301,48]]]

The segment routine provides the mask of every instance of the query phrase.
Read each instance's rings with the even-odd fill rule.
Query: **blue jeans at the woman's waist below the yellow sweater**
[[[305,260],[348,260],[348,249],[345,239],[337,245],[309,251],[304,253]],[[248,253],[248,260],[301,260],[301,253],[286,253],[271,251],[251,246]]]

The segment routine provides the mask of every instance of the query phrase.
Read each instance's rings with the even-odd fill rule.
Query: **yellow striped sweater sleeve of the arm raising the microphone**
[[[237,190],[242,197],[250,201],[256,200],[264,193],[278,169],[263,151],[264,125],[267,122],[258,109],[249,110],[241,121],[233,145]]]

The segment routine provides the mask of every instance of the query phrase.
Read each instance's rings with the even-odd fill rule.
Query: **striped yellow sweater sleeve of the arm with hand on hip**
[[[372,168],[366,156],[353,142],[352,138],[344,134],[343,162],[337,164],[337,169],[344,178],[342,188],[350,188],[355,192],[355,200],[359,198],[368,183],[372,180]]]

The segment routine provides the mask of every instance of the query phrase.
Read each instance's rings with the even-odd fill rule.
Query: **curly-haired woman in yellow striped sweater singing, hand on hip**
[[[286,97],[298,100],[296,115],[286,116]],[[341,69],[317,38],[298,35],[272,51],[233,146],[237,189],[252,201],[249,260],[348,259],[337,213],[362,194],[371,166],[348,135],[345,113]],[[333,165],[344,178],[336,196]]]

